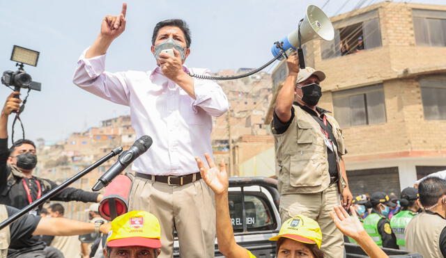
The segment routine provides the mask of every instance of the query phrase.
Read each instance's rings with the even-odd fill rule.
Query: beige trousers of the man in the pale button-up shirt
[[[203,179],[183,186],[169,186],[134,177],[130,211],[153,213],[161,225],[160,258],[173,256],[174,228],[180,257],[214,257],[215,200]]]

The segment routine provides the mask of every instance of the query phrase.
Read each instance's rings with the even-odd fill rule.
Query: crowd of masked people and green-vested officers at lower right
[[[353,200],[353,213],[376,245],[419,252],[424,257],[445,257],[445,175],[443,170],[420,179],[414,187],[404,188],[399,197],[384,192],[358,195]],[[426,230],[429,232],[423,233]],[[430,234],[430,243],[423,234]],[[349,241],[355,243],[353,239]]]

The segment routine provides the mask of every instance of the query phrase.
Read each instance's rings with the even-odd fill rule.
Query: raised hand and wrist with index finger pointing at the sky
[[[89,50],[86,51],[86,58],[102,56],[107,52],[113,40],[118,38],[125,30],[125,13],[127,13],[127,3],[123,3],[120,15],[107,15],[102,19],[98,38],[96,38]]]

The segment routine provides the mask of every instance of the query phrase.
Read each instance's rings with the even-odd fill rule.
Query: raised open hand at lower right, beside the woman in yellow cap
[[[353,216],[349,216],[347,211],[341,207],[334,207],[334,212],[330,212],[330,217],[332,217],[334,221],[334,225],[341,230],[342,234],[346,236],[350,236],[352,239],[358,239],[361,237],[361,234],[364,233],[364,227],[357,218],[356,211],[353,206],[350,207],[350,211]]]

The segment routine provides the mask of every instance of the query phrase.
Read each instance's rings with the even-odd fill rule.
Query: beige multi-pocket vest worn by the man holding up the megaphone
[[[294,105],[294,118],[283,134],[277,134],[272,127],[277,146],[278,189],[283,194],[319,193],[328,188],[328,151],[321,125],[300,106]],[[339,169],[339,155],[346,153],[344,136],[337,121],[325,114],[332,125],[332,134],[337,140],[333,145],[337,154],[339,192],[345,187],[344,178]]]

